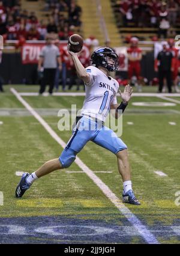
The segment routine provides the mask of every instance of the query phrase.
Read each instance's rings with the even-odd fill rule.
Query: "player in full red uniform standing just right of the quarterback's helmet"
[[[141,91],[140,87],[140,60],[142,59],[142,50],[138,47],[137,37],[132,37],[130,40],[130,47],[127,49],[128,53],[128,78],[132,79],[136,76],[136,86],[138,91]]]

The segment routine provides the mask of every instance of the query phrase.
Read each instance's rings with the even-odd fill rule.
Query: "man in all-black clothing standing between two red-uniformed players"
[[[163,89],[164,78],[167,81],[167,87],[169,93],[172,92],[172,78],[171,78],[171,63],[172,63],[172,52],[167,49],[167,43],[163,42],[163,50],[158,53],[158,76],[159,76],[159,90],[161,93]]]

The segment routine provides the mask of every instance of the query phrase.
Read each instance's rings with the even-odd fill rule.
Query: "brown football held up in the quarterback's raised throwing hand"
[[[80,52],[83,47],[83,38],[78,34],[73,34],[68,38],[68,46],[71,52]]]

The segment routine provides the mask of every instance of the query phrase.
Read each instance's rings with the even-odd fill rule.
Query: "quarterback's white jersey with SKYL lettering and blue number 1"
[[[94,66],[86,67],[90,75],[90,82],[85,83],[86,97],[81,110],[82,115],[88,115],[98,120],[105,121],[110,111],[110,105],[116,104],[118,81],[106,76]]]

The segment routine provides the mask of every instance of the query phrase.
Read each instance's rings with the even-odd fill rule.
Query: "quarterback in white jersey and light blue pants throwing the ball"
[[[86,145],[88,141],[106,148],[116,155],[118,170],[122,176],[123,192],[122,200],[125,203],[139,205],[132,190],[130,165],[128,162],[127,145],[118,138],[111,129],[104,126],[104,121],[110,111],[114,109],[116,118],[119,111],[124,112],[133,92],[130,85],[120,93],[122,102],[116,100],[119,90],[118,82],[109,76],[109,72],[118,69],[118,55],[109,47],[100,47],[92,53],[91,59],[94,66],[85,69],[79,60],[78,53],[68,52],[73,58],[77,75],[85,83],[86,97],[83,102],[81,115],[76,118],[76,123],[66,147],[57,159],[44,163],[37,171],[22,175],[20,183],[16,188],[16,197],[20,198],[32,183],[37,179],[57,169],[68,168],[76,159],[76,154]],[[89,129],[89,127],[91,127]]]

